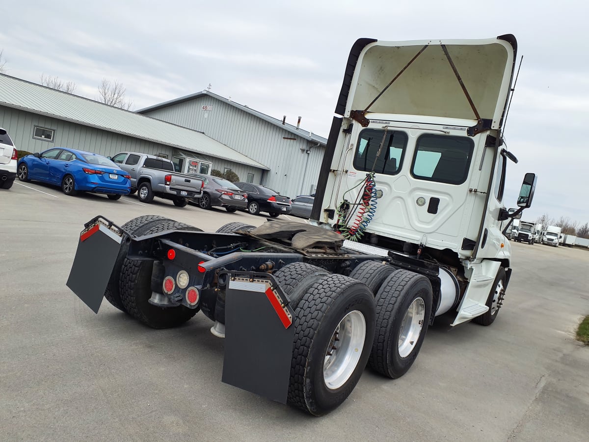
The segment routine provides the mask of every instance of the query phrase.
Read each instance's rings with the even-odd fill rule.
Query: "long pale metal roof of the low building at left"
[[[0,74],[0,105],[269,170],[202,132],[5,74]]]

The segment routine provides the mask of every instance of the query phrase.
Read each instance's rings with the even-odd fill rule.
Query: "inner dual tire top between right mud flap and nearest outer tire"
[[[274,279],[289,298],[293,309],[311,286],[329,272],[306,262],[293,262],[274,273]]]

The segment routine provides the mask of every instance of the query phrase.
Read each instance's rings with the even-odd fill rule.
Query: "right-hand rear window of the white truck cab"
[[[420,180],[462,184],[468,177],[473,150],[470,138],[423,134],[415,146],[411,175]]]

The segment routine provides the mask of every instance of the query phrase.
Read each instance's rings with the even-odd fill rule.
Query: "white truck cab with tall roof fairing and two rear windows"
[[[350,242],[435,265],[436,315],[455,310],[452,325],[501,304],[511,274],[502,222],[534,193],[526,174],[517,212],[503,207],[508,163],[517,162],[501,134],[516,50],[512,35],[360,39],[327,143],[312,218]],[[501,293],[489,301],[499,275]]]

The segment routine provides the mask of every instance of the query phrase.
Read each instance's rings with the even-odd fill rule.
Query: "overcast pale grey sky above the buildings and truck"
[[[514,34],[524,55],[505,137],[507,207],[524,173],[538,174],[531,209],[589,222],[589,6],[581,1],[4,2],[0,50],[8,75],[74,81],[97,98],[124,83],[132,109],[201,91],[327,137],[350,47],[380,40]]]

